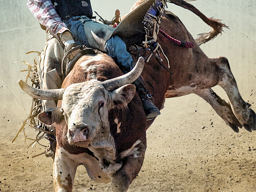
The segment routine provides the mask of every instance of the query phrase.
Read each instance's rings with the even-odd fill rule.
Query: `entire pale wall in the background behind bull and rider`
[[[135,2],[92,0],[92,6],[102,17],[111,20],[117,8],[124,15]],[[252,103],[255,100],[255,91],[252,90],[256,90],[256,1],[198,0],[193,4],[207,17],[222,19],[229,26],[230,29],[224,29],[221,36],[202,45],[202,49],[209,57],[228,58],[243,97]],[[211,29],[188,10],[172,4],[168,4],[168,10],[179,16],[195,37],[197,33]],[[29,113],[31,98],[22,92],[17,83],[18,79],[25,78],[25,73],[20,70],[26,69],[26,65],[12,62],[32,63],[35,54],[25,53],[41,51],[45,31],[29,12],[26,0],[1,0],[0,18],[0,132],[12,127],[12,134],[15,134]],[[194,101],[198,98],[189,96],[182,100],[189,107],[195,106]],[[253,108],[256,109],[255,106]]]

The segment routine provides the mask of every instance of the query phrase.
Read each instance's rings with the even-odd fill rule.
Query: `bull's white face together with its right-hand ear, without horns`
[[[62,109],[68,125],[70,145],[90,147],[93,141],[108,138],[108,111],[125,107],[135,93],[134,85],[127,84],[108,92],[99,81],[68,86],[63,94]]]

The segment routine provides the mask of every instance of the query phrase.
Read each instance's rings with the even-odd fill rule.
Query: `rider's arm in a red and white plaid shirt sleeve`
[[[28,0],[27,6],[40,24],[45,26],[46,31],[49,31],[56,38],[60,37],[63,32],[69,31],[56,13],[51,0]]]

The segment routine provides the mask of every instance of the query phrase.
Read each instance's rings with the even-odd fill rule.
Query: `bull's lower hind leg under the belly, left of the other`
[[[239,132],[238,127],[241,128],[242,126],[234,115],[231,106],[225,100],[221,99],[211,88],[198,90],[195,94],[207,101],[228,126]]]

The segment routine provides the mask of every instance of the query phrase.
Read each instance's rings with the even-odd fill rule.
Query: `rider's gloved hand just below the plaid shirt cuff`
[[[74,41],[74,38],[69,31],[65,31],[63,34],[61,34],[60,40],[61,43],[65,45],[64,54],[70,51],[73,47],[76,47],[76,42]],[[71,52],[71,54],[69,55],[70,60],[72,60],[78,52],[79,50]]]

